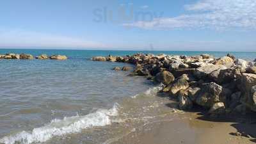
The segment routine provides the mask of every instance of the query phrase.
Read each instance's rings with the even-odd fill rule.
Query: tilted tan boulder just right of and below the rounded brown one
[[[177,79],[177,81],[175,81],[174,83],[171,84],[170,93],[171,93],[171,95],[175,95],[180,90],[186,90],[187,88],[189,88],[188,81],[184,78],[180,78],[180,79]]]

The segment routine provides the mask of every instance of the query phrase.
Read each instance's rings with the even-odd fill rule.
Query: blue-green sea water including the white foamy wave
[[[124,56],[143,51],[0,49],[0,54],[8,52],[33,56],[63,54],[68,60],[0,60],[0,143],[63,143],[63,140],[52,140],[111,125],[118,113],[116,103],[153,87],[143,77],[129,77],[128,72],[111,70],[129,64],[90,60],[92,56]],[[216,57],[227,54],[150,53],[209,53]],[[246,60],[256,58],[256,52],[230,53]],[[84,135],[79,143],[100,143],[97,136],[92,141],[86,137],[90,135],[88,132]],[[75,136],[75,139],[79,138]]]

